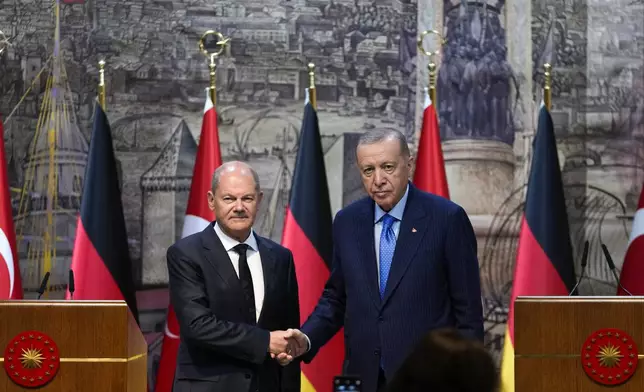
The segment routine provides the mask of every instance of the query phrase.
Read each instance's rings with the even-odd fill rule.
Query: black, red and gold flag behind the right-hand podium
[[[515,299],[518,296],[565,296],[575,286],[557,142],[552,118],[543,105],[533,152],[503,347],[501,380],[504,392],[514,391]]]

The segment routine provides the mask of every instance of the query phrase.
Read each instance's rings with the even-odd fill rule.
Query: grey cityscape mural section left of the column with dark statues
[[[352,135],[391,127],[413,137],[416,3],[67,3],[61,4],[58,54],[62,87],[69,97],[66,102],[75,115],[75,126],[66,132],[74,135],[76,143],[66,147],[86,157],[97,63],[103,59],[107,113],[120,165],[153,386],[168,304],[165,250],[181,235],[208,86],[207,59],[198,50],[201,35],[213,29],[231,38],[217,67],[221,151],[224,160],[248,161],[259,171],[266,202],[256,230],[279,242],[308,87],[307,64],[316,66],[318,116],[337,210],[362,195],[356,178],[344,176],[345,156],[352,155],[345,151],[352,152],[355,144]],[[49,1],[0,3],[0,30],[12,43],[0,58],[0,112],[5,119],[15,213],[27,216],[26,220],[42,212],[37,203],[28,203],[26,210],[21,207],[20,192],[25,183],[33,182],[30,192],[37,193],[39,181],[33,178],[46,171],[38,169],[45,164],[30,153],[32,145],[41,145],[32,139],[48,96],[46,75],[56,51],[54,27]],[[60,151],[63,154],[62,147]],[[58,169],[69,171],[66,166]],[[72,203],[65,206],[67,214],[57,218],[64,229],[57,230],[62,240],[51,262],[51,297],[64,292],[83,173],[83,164],[75,165],[69,175],[75,187],[65,187],[62,180],[58,185],[59,200]],[[29,232],[36,224],[22,226],[21,269],[27,296],[33,296],[43,270],[31,250],[39,234]]]

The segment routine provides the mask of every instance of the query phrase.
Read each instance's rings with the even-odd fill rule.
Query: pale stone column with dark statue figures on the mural
[[[518,10],[521,18],[516,16]],[[505,25],[510,17],[521,23],[513,20]],[[529,79],[525,75],[530,75],[524,70],[532,64],[530,1],[504,5],[488,0],[484,7],[474,2],[420,0],[419,34],[426,29],[441,31],[447,40],[436,63],[437,106],[450,196],[469,214],[491,217],[515,186],[514,145],[525,121],[523,114],[515,113],[529,112],[523,103],[516,102],[513,86],[514,80],[525,84]],[[437,44],[437,37],[428,37],[426,48],[437,48]],[[520,45],[524,45],[522,50]],[[427,63],[427,57],[419,54],[417,129],[422,123],[421,92],[428,82]],[[531,97],[529,85],[520,89],[521,96]]]

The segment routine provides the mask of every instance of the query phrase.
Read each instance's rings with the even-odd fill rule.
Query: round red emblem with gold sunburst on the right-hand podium
[[[607,328],[593,332],[581,350],[584,371],[603,385],[619,385],[637,369],[637,346],[626,332]]]

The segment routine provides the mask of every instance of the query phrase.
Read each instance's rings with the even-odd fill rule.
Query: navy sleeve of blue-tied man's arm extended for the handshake
[[[310,342],[309,351],[302,356],[305,363],[310,363],[320,348],[324,346],[344,326],[346,309],[346,291],[342,260],[338,251],[339,216],[333,222],[333,266],[331,276],[324,286],[322,296],[313,313],[302,326],[302,332]]]

